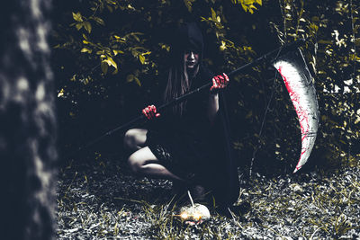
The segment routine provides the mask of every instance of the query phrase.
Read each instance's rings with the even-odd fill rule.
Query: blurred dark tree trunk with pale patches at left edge
[[[51,239],[55,229],[49,6],[12,0],[0,7],[1,239]]]

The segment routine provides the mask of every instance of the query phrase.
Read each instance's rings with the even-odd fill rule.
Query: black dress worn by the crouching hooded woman
[[[201,66],[191,90],[209,83],[212,76]],[[209,94],[206,90],[195,93],[186,101],[182,116],[176,116],[171,108],[162,111],[149,126],[146,144],[171,173],[206,186],[218,196],[218,203],[229,204],[238,198],[238,172],[231,155],[222,94],[212,126],[207,115]]]

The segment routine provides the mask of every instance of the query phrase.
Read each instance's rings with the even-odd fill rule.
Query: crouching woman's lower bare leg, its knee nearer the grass
[[[160,164],[157,157],[154,156],[148,147],[143,147],[130,155],[129,164],[134,173],[143,174],[149,177],[184,181]]]

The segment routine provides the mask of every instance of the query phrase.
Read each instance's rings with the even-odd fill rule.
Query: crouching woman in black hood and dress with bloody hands
[[[225,152],[230,150],[224,149],[226,146],[222,140],[220,145],[217,143],[224,137],[219,90],[229,84],[229,77],[225,74],[212,77],[211,72],[202,66],[202,51],[202,33],[196,24],[187,23],[180,27],[172,46],[173,65],[168,71],[163,102],[169,102],[212,79],[210,91],[197,93],[161,113],[157,112],[156,106],[149,105],[142,112],[151,120],[151,126],[128,130],[124,142],[134,151],[129,157],[134,173],[183,182],[188,188],[202,185],[214,191],[220,203],[229,204],[237,199],[238,189],[231,190],[231,196],[224,197],[219,190],[228,186],[218,186],[217,180],[224,182],[222,177],[229,178],[226,172],[230,161],[227,160],[227,169],[220,170],[219,175],[217,170],[221,164],[217,162],[221,160],[214,159],[229,158]],[[229,138],[227,141],[229,143]],[[237,177],[232,178],[238,181]]]

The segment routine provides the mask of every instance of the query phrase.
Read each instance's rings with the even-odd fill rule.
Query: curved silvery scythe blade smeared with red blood
[[[302,130],[302,152],[293,173],[302,168],[309,156],[319,128],[319,105],[302,51],[296,49],[276,58],[274,67],[284,79]]]

